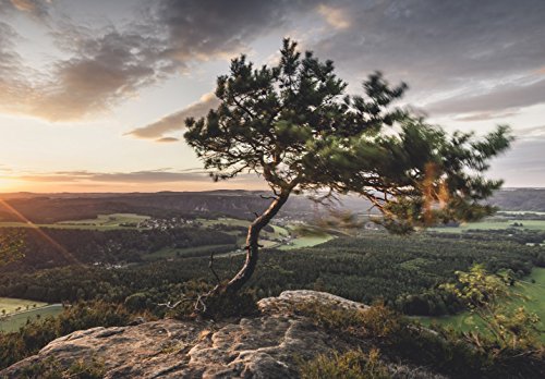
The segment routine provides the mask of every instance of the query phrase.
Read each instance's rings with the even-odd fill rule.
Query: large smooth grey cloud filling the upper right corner
[[[416,95],[528,75],[545,62],[542,0],[340,1],[349,27],[315,44],[350,78],[374,70]],[[331,7],[334,7],[331,5]]]

